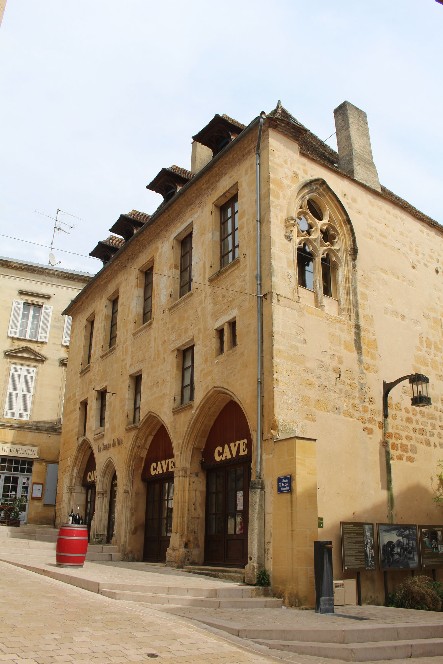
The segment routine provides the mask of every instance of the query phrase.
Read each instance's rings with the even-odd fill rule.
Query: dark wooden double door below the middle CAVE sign
[[[165,562],[172,534],[174,478],[147,482],[143,560]]]

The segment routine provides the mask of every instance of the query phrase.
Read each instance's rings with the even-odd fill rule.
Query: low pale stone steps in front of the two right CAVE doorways
[[[193,592],[191,589],[191,593]],[[148,592],[128,592],[124,590],[106,590],[100,586],[99,594],[113,600],[140,602],[142,604],[171,604],[173,606],[197,606],[210,609],[264,609],[281,608],[283,601],[273,598],[210,598],[192,594],[171,595]]]

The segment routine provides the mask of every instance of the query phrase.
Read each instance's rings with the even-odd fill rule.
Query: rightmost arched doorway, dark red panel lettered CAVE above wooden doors
[[[248,507],[252,438],[234,401],[222,408],[206,440],[205,564],[244,567],[248,562]]]

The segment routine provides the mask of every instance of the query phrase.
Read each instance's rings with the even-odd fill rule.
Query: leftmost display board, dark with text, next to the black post
[[[341,552],[345,570],[375,570],[374,524],[341,521]]]

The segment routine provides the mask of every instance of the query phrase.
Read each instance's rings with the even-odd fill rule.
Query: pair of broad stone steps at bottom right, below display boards
[[[443,656],[442,625],[343,629],[242,629],[240,637],[272,650],[341,661],[379,661]]]

